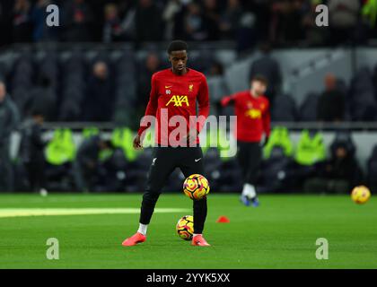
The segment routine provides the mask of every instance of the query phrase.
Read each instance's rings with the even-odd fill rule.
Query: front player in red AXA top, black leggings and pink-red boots
[[[199,146],[198,135],[205,124],[205,120],[198,120],[191,126],[191,118],[197,116],[206,119],[209,114],[209,95],[206,76],[188,68],[188,45],[181,40],[174,40],[168,48],[171,68],[154,73],[150,100],[145,110],[145,116],[157,119],[156,143],[153,149],[153,161],[148,173],[148,179],[143,196],[140,213],[140,224],[136,234],[123,241],[123,246],[133,246],[145,241],[146,230],[151,221],[154,206],[161,194],[162,187],[172,171],[180,168],[188,178],[192,174],[204,174],[203,152]],[[180,95],[180,96],[176,96]],[[168,120],[164,120],[162,113],[167,112]],[[161,117],[161,118],[160,118]],[[167,126],[171,117],[180,117],[186,125],[185,135],[176,135],[171,142],[170,136],[176,126]],[[136,149],[142,148],[145,130],[151,123],[142,119],[140,128],[134,140]],[[165,132],[167,130],[167,133]],[[192,245],[209,246],[202,232],[206,222],[206,197],[193,202],[194,235]]]

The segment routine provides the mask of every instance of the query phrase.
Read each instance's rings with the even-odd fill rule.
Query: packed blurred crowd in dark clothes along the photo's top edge
[[[57,4],[60,26],[46,25]],[[329,27],[315,7],[327,4]],[[1,44],[39,41],[116,42],[232,40],[239,50],[259,41],[275,47],[327,46],[375,38],[375,0],[2,0]]]

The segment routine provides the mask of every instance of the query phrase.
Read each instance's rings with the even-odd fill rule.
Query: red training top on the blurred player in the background
[[[234,102],[237,126],[235,137],[241,142],[260,142],[263,133],[270,134],[269,101],[265,96],[253,97],[250,91],[240,91],[224,97],[221,104]]]

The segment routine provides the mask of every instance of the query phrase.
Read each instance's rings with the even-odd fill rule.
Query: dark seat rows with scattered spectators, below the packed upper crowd
[[[8,95],[7,101],[13,102],[22,120],[39,109],[48,122],[112,122],[136,129],[149,100],[152,75],[169,66],[164,51],[143,51],[143,57],[136,57],[131,50],[106,52],[90,59],[74,50],[43,52],[44,56],[39,55],[42,52],[24,53],[7,65],[6,71],[0,67],[4,86],[0,93]],[[226,76],[226,67],[207,57],[204,50],[191,52],[198,56],[190,57],[189,67],[207,76],[211,114],[232,115],[231,108],[219,103],[231,93],[230,84],[238,75]],[[273,121],[377,121],[377,65],[355,71],[349,82],[337,74],[323,74],[323,83],[317,83],[323,85],[323,91],[310,91],[299,101],[294,94],[282,91],[280,63],[270,52],[267,44],[262,45],[246,73],[249,79],[256,74],[267,78]],[[87,51],[91,53],[94,51]],[[5,109],[1,101],[0,109]]]

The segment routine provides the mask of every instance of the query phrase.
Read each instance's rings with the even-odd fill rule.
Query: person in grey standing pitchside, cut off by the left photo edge
[[[13,191],[13,166],[9,152],[11,135],[19,119],[18,109],[6,93],[5,83],[0,82],[0,179],[4,182],[0,190]]]

